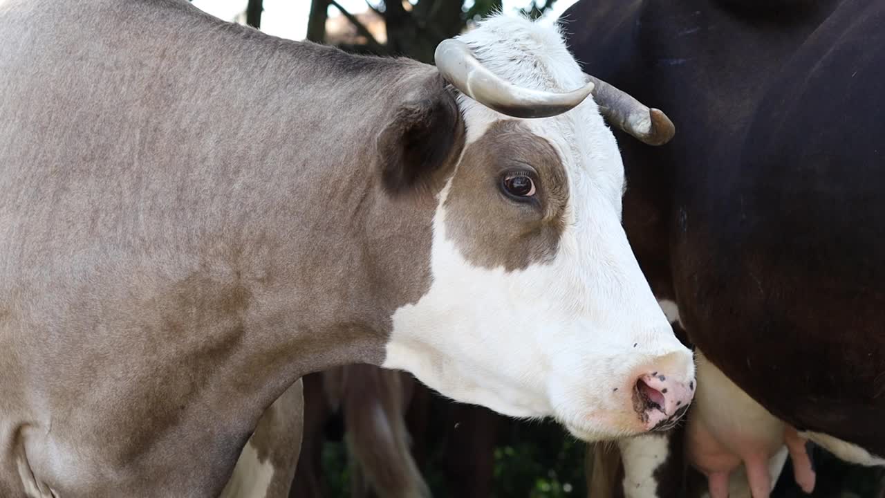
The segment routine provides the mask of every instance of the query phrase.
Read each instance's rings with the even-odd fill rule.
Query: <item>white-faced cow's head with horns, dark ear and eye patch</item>
[[[583,74],[556,27],[493,17],[436,54],[458,92],[424,85],[379,136],[389,191],[438,185],[431,284],[393,315],[384,366],[585,440],[668,425],[694,364],[627,244],[600,112],[653,144],[672,124]]]

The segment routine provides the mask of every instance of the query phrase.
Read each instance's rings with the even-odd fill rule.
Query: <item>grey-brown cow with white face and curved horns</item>
[[[353,362],[587,440],[680,416],[694,364],[586,97],[652,143],[666,117],[527,19],[436,62],[0,2],[0,495],[218,495],[282,393]]]

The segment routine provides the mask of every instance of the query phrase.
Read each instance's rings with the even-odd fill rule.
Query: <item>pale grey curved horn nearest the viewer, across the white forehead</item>
[[[566,93],[518,87],[482,66],[466,43],[454,39],[436,46],[435,61],[443,78],[467,97],[514,118],[548,118],[565,113],[589,97],[594,87],[588,82]]]

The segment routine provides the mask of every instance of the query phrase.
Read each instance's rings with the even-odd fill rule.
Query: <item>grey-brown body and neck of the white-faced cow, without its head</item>
[[[384,87],[414,82],[377,71],[340,81],[347,61],[335,52],[321,74],[292,65],[298,46],[225,43],[257,35],[230,25],[194,40],[188,24],[204,19],[186,5],[105,3],[91,12],[100,23],[82,24],[61,5],[4,5],[0,24],[0,88],[16,94],[0,101],[0,495],[20,495],[22,461],[60,496],[217,495],[258,417],[304,372],[383,358],[381,337],[337,351],[328,338],[383,330],[392,307],[419,295],[342,279],[363,265],[395,270],[403,254],[363,253],[321,215],[359,206],[341,196],[374,181],[329,151],[367,156],[360,146],[397,91]],[[89,29],[104,35],[89,40]],[[11,58],[10,39],[35,44],[34,57]],[[269,74],[282,58],[319,70],[328,91]],[[336,126],[330,108],[360,119]],[[310,135],[293,131],[305,121]],[[305,206],[319,224],[310,237]],[[378,226],[385,209],[361,208],[345,230],[393,241],[429,230],[414,217]]]

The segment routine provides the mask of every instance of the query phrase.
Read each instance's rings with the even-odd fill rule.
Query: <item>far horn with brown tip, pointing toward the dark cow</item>
[[[649,109],[634,97],[587,74],[594,84],[593,99],[599,112],[614,126],[649,145],[663,145],[673,138],[673,121],[660,109]]]

